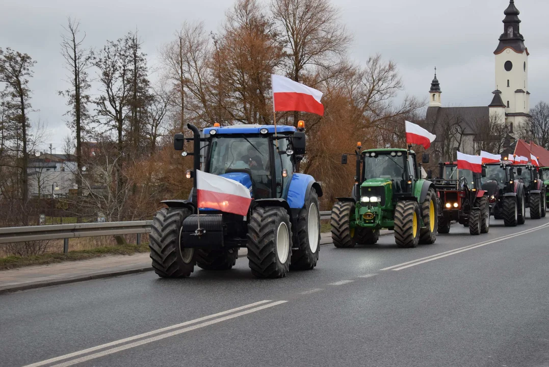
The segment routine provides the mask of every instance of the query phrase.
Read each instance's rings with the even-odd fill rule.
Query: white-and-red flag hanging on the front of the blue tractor
[[[251,195],[243,184],[200,170],[196,174],[199,208],[211,208],[241,216],[248,214]]]

